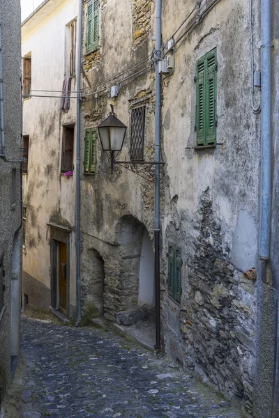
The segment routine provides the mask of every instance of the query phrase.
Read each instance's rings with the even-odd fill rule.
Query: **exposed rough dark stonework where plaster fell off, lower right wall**
[[[183,249],[178,324],[182,354],[177,358],[220,392],[241,398],[246,412],[252,414],[255,284],[232,265],[209,188],[200,197],[195,217],[187,222],[190,227],[183,231],[178,225],[174,229],[174,224],[167,229],[167,235]],[[164,300],[165,309],[172,309],[169,298]],[[172,326],[169,318],[166,321]],[[167,346],[169,350],[169,342]]]

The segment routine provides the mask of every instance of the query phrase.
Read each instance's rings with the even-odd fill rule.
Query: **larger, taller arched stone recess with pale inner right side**
[[[119,311],[153,304],[153,271],[151,286],[146,288],[147,271],[153,270],[153,250],[144,224],[133,215],[123,216],[116,227],[116,246],[105,261],[104,293],[105,318],[114,321]]]

